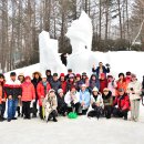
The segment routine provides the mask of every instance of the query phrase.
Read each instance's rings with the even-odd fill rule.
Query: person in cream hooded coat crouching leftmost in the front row
[[[58,101],[56,101],[55,91],[51,89],[44,99],[47,122],[49,122],[52,117],[53,117],[53,122],[58,122],[58,120],[55,119],[58,115],[56,106],[58,106]]]

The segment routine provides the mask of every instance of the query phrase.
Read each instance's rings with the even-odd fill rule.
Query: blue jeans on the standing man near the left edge
[[[8,100],[8,120],[16,116],[18,100]]]

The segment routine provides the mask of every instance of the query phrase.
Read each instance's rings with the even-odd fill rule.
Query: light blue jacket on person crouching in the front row
[[[84,101],[86,107],[90,106],[91,95],[88,90],[84,92],[80,91],[80,103],[82,103],[82,101]]]

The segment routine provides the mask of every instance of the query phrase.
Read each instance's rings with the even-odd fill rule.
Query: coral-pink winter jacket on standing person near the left
[[[33,84],[30,83],[22,83],[22,97],[21,101],[32,101],[33,99],[35,99],[35,90]]]

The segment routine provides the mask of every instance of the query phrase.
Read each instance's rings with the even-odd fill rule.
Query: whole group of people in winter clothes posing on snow
[[[8,122],[17,120],[17,111],[18,116],[28,120],[37,117],[39,112],[40,119],[47,122],[58,122],[59,115],[66,116],[71,112],[89,117],[127,120],[131,111],[131,121],[137,122],[144,81],[138,82],[131,72],[120,73],[115,81],[110,65],[104,66],[102,62],[92,68],[92,73],[89,79],[86,72],[75,74],[71,69],[60,76],[47,70],[44,74],[34,72],[31,79],[11,72],[8,81],[0,74],[0,121],[6,120],[7,102]]]

